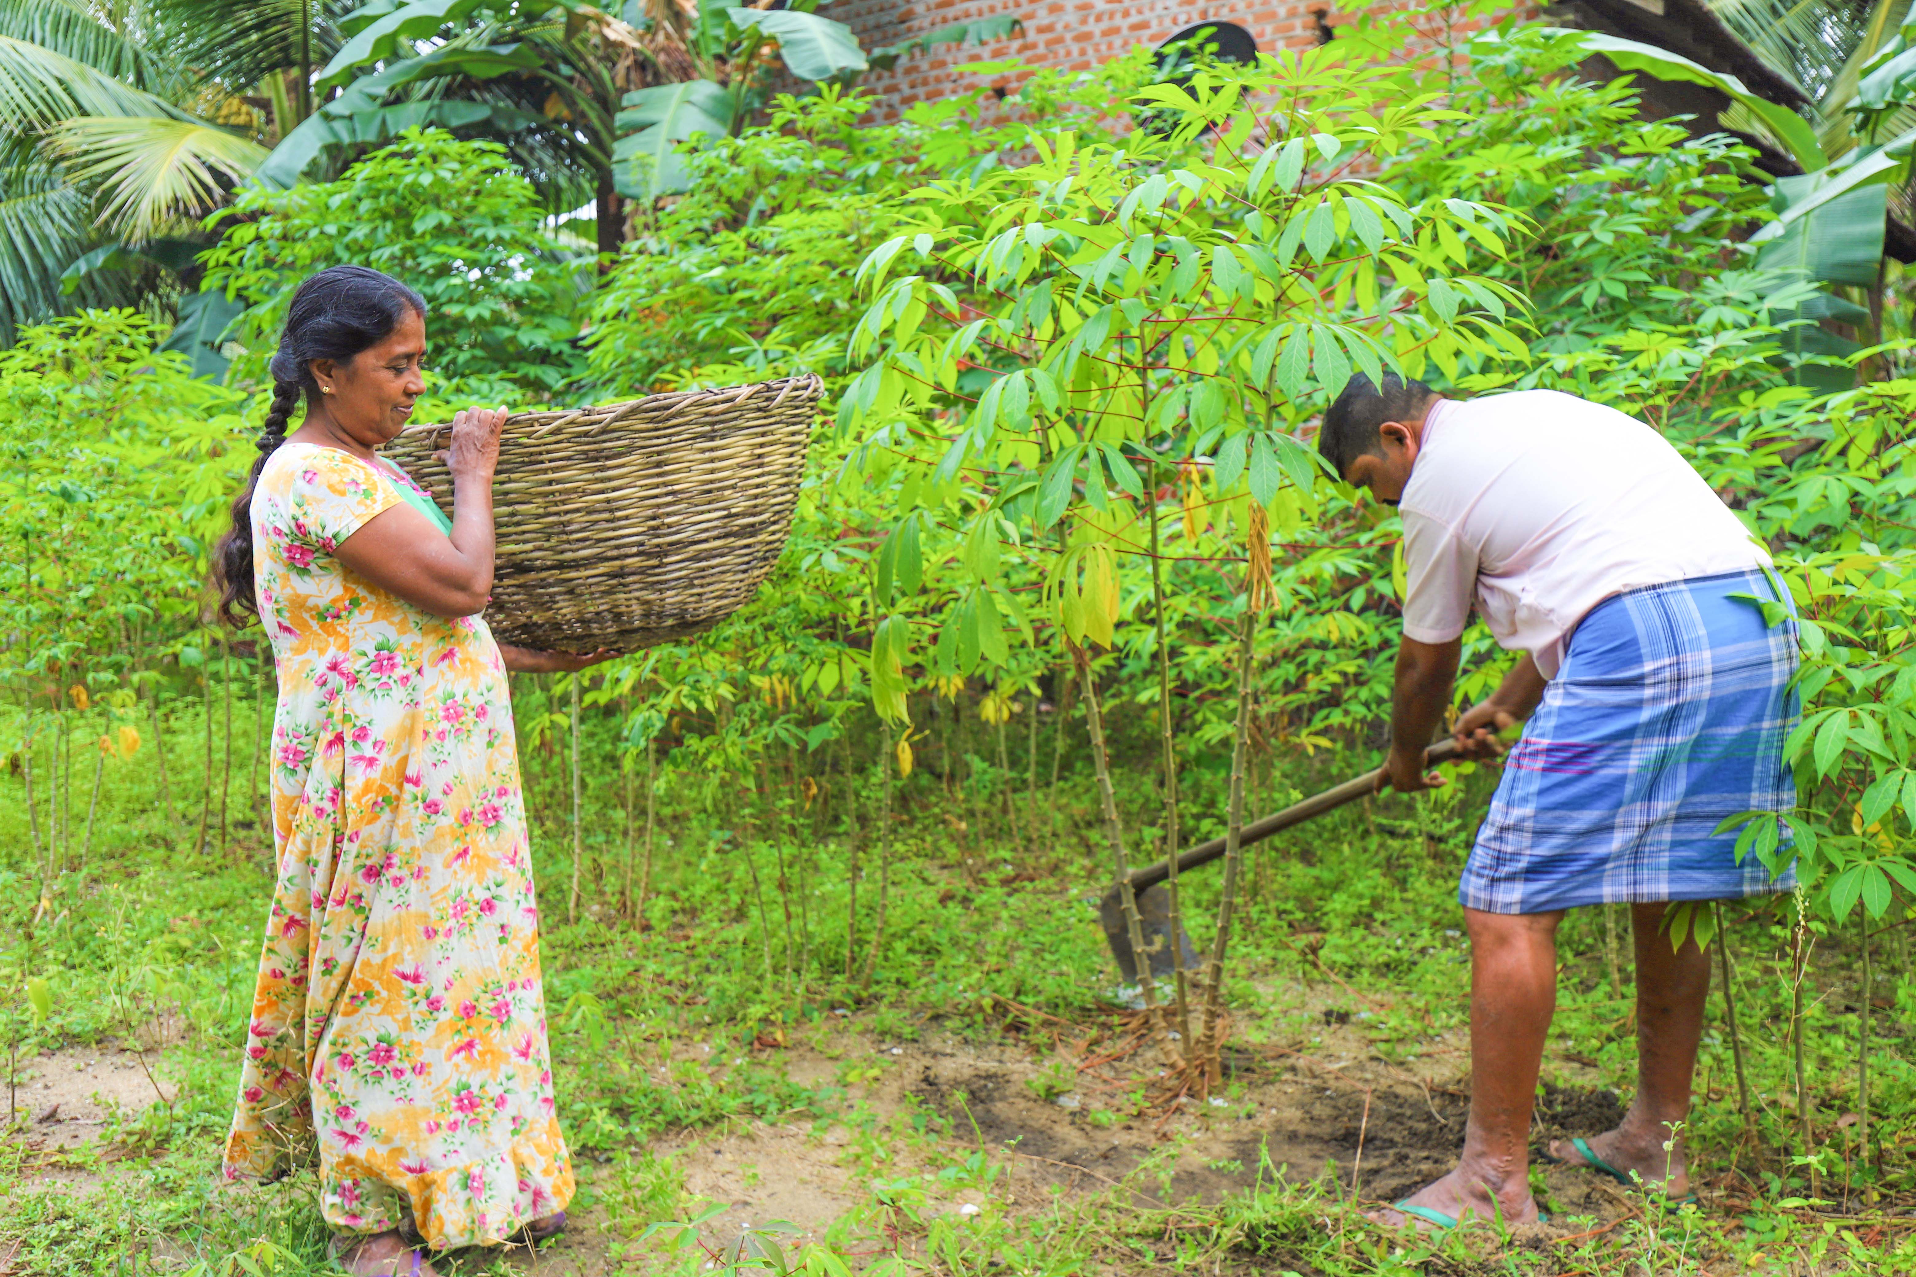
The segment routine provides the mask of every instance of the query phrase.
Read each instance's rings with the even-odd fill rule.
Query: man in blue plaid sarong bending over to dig
[[[1510,751],[1464,867],[1471,944],[1471,1101],[1464,1153],[1385,1223],[1537,1218],[1527,1135],[1556,1007],[1565,909],[1629,902],[1636,932],[1638,1087],[1623,1124],[1552,1145],[1571,1166],[1684,1199],[1676,1124],[1709,992],[1696,940],[1671,948],[1676,900],[1788,890],[1726,816],[1784,812],[1795,718],[1795,622],[1770,628],[1770,559],[1654,429],[1554,391],[1447,400],[1418,381],[1358,375],[1318,448],[1404,523],[1404,636],[1387,783],[1414,793],[1450,708],[1471,599],[1496,641],[1525,653],[1454,733],[1468,756]],[[1665,1149],[1669,1145],[1669,1149]]]

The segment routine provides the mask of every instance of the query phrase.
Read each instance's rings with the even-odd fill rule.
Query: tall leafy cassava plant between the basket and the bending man
[[[912,661],[901,609],[931,592],[941,618],[929,664],[941,676],[1006,666],[1008,630],[1073,653],[1107,775],[1086,647],[1117,639],[1127,576],[1142,563],[1171,852],[1175,565],[1161,513],[1176,479],[1207,511],[1182,521],[1186,559],[1219,557],[1207,536],[1219,505],[1238,526],[1257,504],[1276,532],[1295,530],[1324,482],[1297,429],[1324,396],[1353,370],[1376,379],[1435,362],[1454,373],[1460,358],[1521,356],[1508,322],[1523,302],[1473,274],[1502,251],[1510,214],[1462,199],[1404,203],[1368,176],[1454,119],[1414,73],[1314,50],[1201,71],[1188,88],[1150,86],[1138,103],[1153,113],[1150,130],[1109,142],[1037,132],[1029,163],[918,191],[906,232],[858,272],[872,301],[851,352],[868,368],[839,425],[862,431],[851,465],[889,484],[901,511],[874,572],[876,609],[889,615],[872,685],[893,718]],[[958,572],[924,571],[931,542],[956,544]],[[1038,586],[1044,605],[1031,609],[1019,594]],[[1109,802],[1106,823],[1123,881]],[[1175,875],[1167,892],[1176,923]],[[1129,886],[1125,909],[1136,940]],[[1192,1017],[1178,948],[1169,1017],[1153,980],[1140,992],[1182,1066]]]

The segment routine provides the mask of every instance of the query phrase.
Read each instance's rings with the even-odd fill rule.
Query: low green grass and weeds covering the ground
[[[34,873],[21,777],[0,783],[0,975],[11,990],[42,976],[54,996],[44,1024],[21,997],[4,1011],[0,1030],[31,1057],[165,1024],[171,1043],[157,1057],[180,1084],[171,1105],[121,1114],[98,1147],[71,1156],[29,1153],[31,1130],[0,1145],[0,1239],[19,1246],[13,1271],[324,1269],[326,1233],[307,1177],[234,1191],[215,1176],[270,877],[257,829],[236,831],[228,848],[194,848],[195,726],[182,716],[169,741],[180,810],[171,819],[157,810],[149,749],[130,764],[109,764],[115,770],[92,852],[50,883]],[[1780,1028],[1790,1003],[1791,919],[1786,904],[1751,902],[1728,913],[1757,1143],[1742,1143],[1730,1047],[1713,997],[1692,1120],[1694,1162],[1717,1202],[1705,1214],[1648,1208],[1592,1221],[1583,1229],[1588,1237],[1569,1241],[1562,1229],[1554,1239],[1519,1235],[1508,1243],[1485,1229],[1404,1239],[1364,1223],[1334,1172],[1299,1183],[1278,1179],[1268,1166],[1243,1166],[1249,1187],[1224,1200],[1165,1202],[1153,1187],[1169,1176],[1163,1160],[1136,1168],[1123,1185],[1092,1185],[1094,1193],[1058,1197],[1044,1208],[1029,1200],[1014,1206],[996,1197],[1014,1154],[983,1147],[950,1114],[912,1105],[879,1112],[856,1099],[883,1074],[881,1063],[847,1057],[833,1078],[801,1084],[787,1074],[784,1053],[753,1043],[824,1042],[832,1034],[912,1042],[935,1032],[1023,1043],[1033,1057],[1056,1063],[1052,1030],[1107,1020],[1102,996],[1115,982],[1092,904],[1104,883],[1104,850],[1079,833],[1092,814],[1081,777],[1067,768],[1058,837],[1046,831],[1042,848],[1023,852],[1014,850],[1014,837],[992,833],[989,768],[977,770],[969,793],[947,795],[929,770],[901,787],[885,938],[866,988],[874,795],[864,795],[866,879],[847,980],[849,852],[837,812],[759,814],[747,839],[701,800],[669,791],[661,823],[669,844],[661,839],[657,848],[655,890],[640,929],[611,917],[623,821],[613,802],[617,779],[596,772],[586,907],[567,923],[571,835],[542,819],[554,810],[538,804],[552,789],[542,772],[548,766],[535,751],[529,770],[540,818],[535,850],[546,911],[546,996],[561,1118],[582,1168],[582,1204],[607,1225],[607,1271],[699,1271],[705,1250],[671,1250],[671,1229],[646,1235],[701,1208],[686,1195],[669,1137],[757,1118],[853,1131],[839,1164],[843,1191],[856,1204],[833,1225],[830,1244],[807,1248],[816,1252],[814,1266],[835,1250],[855,1267],[872,1267],[897,1250],[941,1273],[1916,1271],[1916,1220],[1903,1214],[1916,1204],[1916,1072],[1903,1038],[1916,1015],[1916,988],[1906,978],[1901,932],[1876,940],[1876,988],[1891,1005],[1874,1017],[1874,1160],[1857,1154],[1855,1124],[1843,1122],[1857,1103],[1855,936],[1822,936],[1814,952],[1807,1047],[1824,1172],[1814,1193],[1795,1156],[1791,1055]],[[1343,766],[1320,756],[1284,779],[1314,789],[1337,779]],[[1144,823],[1152,802],[1142,773],[1134,772],[1127,793],[1130,827]],[[870,781],[839,777],[839,793],[855,785]],[[1309,1055],[1330,1049],[1318,1042],[1330,1034],[1326,1020],[1345,1020],[1337,1042],[1349,1043],[1357,1032],[1368,1051],[1397,1066],[1416,1066],[1443,1043],[1454,1047],[1468,988],[1454,883],[1485,785],[1479,775],[1447,796],[1380,798],[1257,852],[1230,984],[1240,1045]],[[1194,775],[1194,837],[1209,833],[1205,821],[1220,806],[1215,789],[1203,773]],[[249,814],[238,796],[232,802],[228,821],[238,825]],[[1209,873],[1188,879],[1196,917],[1209,917],[1217,885]],[[1562,959],[1546,1082],[1596,1076],[1627,1095],[1631,1007],[1609,984],[1600,913],[1565,923]],[[1119,1066],[1144,1087],[1152,1068],[1144,1055]],[[1460,1074],[1464,1055],[1450,1066]],[[1031,1089],[1048,1099],[1042,1086]],[[1104,1107],[1086,1122],[1102,1128],[1127,1116]],[[1171,1147],[1163,1156],[1175,1154]],[[960,1187],[975,1191],[983,1208],[962,1218],[939,1214],[937,1202]],[[1138,1191],[1155,1204],[1140,1204]],[[720,1239],[720,1225],[703,1235]],[[789,1244],[786,1252],[803,1254]],[[468,1254],[456,1267],[487,1271],[504,1262]]]

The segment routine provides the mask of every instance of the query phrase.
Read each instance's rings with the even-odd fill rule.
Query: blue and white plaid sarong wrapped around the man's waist
[[[1726,816],[1788,812],[1797,626],[1751,569],[1627,590],[1577,624],[1477,829],[1458,900],[1487,913],[1786,892]],[[1788,599],[1786,599],[1788,601]],[[1788,835],[1786,835],[1788,837]]]

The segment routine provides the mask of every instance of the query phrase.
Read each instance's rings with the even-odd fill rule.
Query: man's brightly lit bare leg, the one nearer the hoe
[[[1537,1218],[1529,1185],[1531,1103],[1556,1013],[1556,929],[1563,911],[1464,909],[1470,929],[1470,1124],[1456,1170],[1426,1185],[1414,1206],[1462,1220]],[[1393,1210],[1383,1223],[1403,1223]]]

